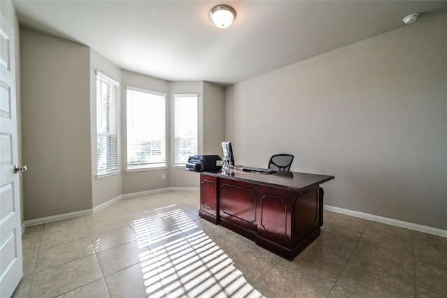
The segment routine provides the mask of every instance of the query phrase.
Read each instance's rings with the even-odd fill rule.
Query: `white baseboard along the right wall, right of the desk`
[[[409,223],[406,221],[398,221],[397,219],[393,219],[393,218],[376,216],[373,214],[367,214],[367,213],[363,213],[363,212],[359,212],[359,211],[352,211],[349,209],[343,209],[343,208],[333,207],[333,206],[329,206],[329,205],[324,205],[323,209],[328,210],[328,211],[333,211],[336,213],[346,214],[349,216],[367,219],[369,221],[377,221],[379,223],[386,223],[387,225],[395,225],[400,228],[406,228],[406,229],[415,230],[418,232],[424,232],[427,234],[434,234],[434,235],[441,236],[441,237],[447,237],[447,230],[441,230],[438,228],[427,227],[426,225],[417,225],[416,223]]]

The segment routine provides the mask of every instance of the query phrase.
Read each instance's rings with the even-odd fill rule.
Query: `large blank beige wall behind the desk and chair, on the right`
[[[447,15],[229,87],[236,163],[331,174],[325,204],[447,229]]]

